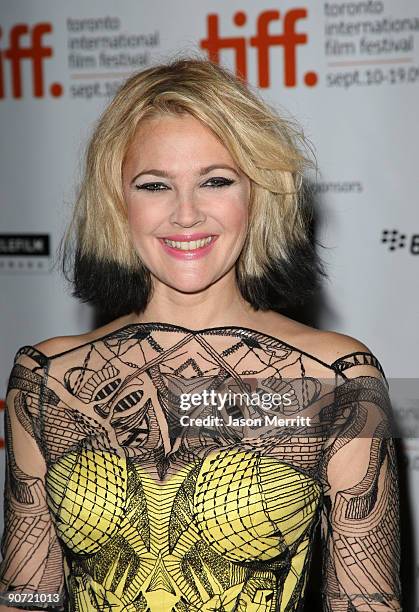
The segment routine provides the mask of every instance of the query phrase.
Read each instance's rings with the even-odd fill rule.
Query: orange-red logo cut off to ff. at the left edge
[[[10,65],[11,95],[13,98],[22,98],[22,62],[28,60],[32,71],[32,95],[35,98],[44,96],[44,61],[52,57],[52,47],[44,44],[43,38],[52,32],[50,23],[36,23],[32,28],[19,23],[14,25],[9,32],[9,48],[0,50],[0,99],[5,98],[5,64],[8,60]],[[0,28],[0,38],[3,31]],[[29,44],[22,43],[22,38],[28,37]],[[60,83],[52,83],[49,88],[50,94],[57,98],[62,95],[63,87]]]

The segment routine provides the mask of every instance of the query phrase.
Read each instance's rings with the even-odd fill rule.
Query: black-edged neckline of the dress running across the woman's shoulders
[[[129,328],[136,329],[136,328],[152,327],[152,326],[160,327],[160,328],[167,327],[167,328],[170,328],[172,330],[184,331],[184,332],[186,332],[188,334],[192,334],[192,335],[205,334],[205,333],[210,333],[210,332],[217,332],[217,331],[221,331],[221,330],[225,330],[225,329],[237,330],[237,331],[245,331],[245,332],[250,332],[252,334],[258,334],[259,336],[263,336],[263,337],[268,338],[270,340],[274,340],[275,342],[279,342],[280,344],[283,344],[284,346],[287,346],[288,348],[293,349],[294,351],[296,351],[298,353],[301,353],[302,355],[306,355],[310,359],[313,359],[314,361],[317,361],[318,363],[322,364],[326,368],[332,369],[335,373],[336,373],[336,369],[334,368],[334,366],[339,361],[341,361],[343,359],[347,359],[350,356],[353,356],[353,355],[372,355],[375,359],[377,359],[375,357],[375,355],[373,355],[369,351],[352,351],[350,353],[342,355],[341,357],[338,357],[331,364],[329,364],[329,363],[323,361],[322,359],[320,359],[320,357],[316,357],[315,355],[312,355],[311,353],[308,353],[307,351],[304,351],[303,349],[298,348],[298,347],[290,344],[289,342],[286,342],[285,340],[282,340],[281,338],[277,338],[277,337],[272,336],[271,334],[268,334],[266,332],[262,332],[262,331],[259,331],[257,329],[253,329],[251,327],[246,327],[244,325],[217,325],[215,327],[205,327],[205,328],[202,328],[202,329],[191,329],[189,327],[184,327],[183,325],[177,325],[176,323],[165,323],[165,322],[160,322],[160,321],[145,321],[145,322],[139,322],[139,323],[128,323],[127,325],[123,325],[122,327],[119,327],[118,329],[114,329],[113,331],[109,332],[108,334],[104,334],[103,336],[99,336],[98,338],[94,338],[94,339],[89,340],[88,342],[84,342],[83,344],[80,344],[78,346],[72,347],[72,348],[67,349],[65,351],[61,351],[60,353],[56,353],[55,355],[45,355],[45,353],[43,353],[39,349],[35,348],[34,346],[30,346],[30,345],[27,345],[27,346],[30,346],[30,348],[32,348],[35,351],[37,351],[46,360],[52,361],[53,359],[61,357],[62,355],[65,355],[66,353],[71,353],[73,351],[77,351],[77,350],[79,350],[79,349],[81,349],[81,348],[83,348],[85,346],[89,346],[89,345],[91,345],[91,344],[93,344],[95,342],[100,342],[101,340],[105,340],[106,338],[109,338],[110,336],[116,336],[119,332],[122,332],[125,329],[129,329]],[[25,348],[25,347],[21,347],[21,349],[19,349],[18,352],[20,352],[23,348]],[[341,375],[342,375],[342,373],[341,373]],[[384,377],[385,377],[385,375],[384,375]]]

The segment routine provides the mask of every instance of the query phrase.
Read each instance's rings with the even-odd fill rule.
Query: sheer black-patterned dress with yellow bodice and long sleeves
[[[294,612],[319,525],[324,609],[401,609],[371,353],[327,364],[248,328],[138,323],[53,356],[22,347],[6,408],[3,603]]]

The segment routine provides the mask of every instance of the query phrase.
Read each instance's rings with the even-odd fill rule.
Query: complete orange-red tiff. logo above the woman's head
[[[306,17],[306,9],[290,9],[284,13],[282,33],[270,34],[269,25],[273,21],[278,21],[281,14],[275,10],[263,11],[257,19],[255,36],[246,39],[244,36],[220,36],[219,16],[211,14],[207,16],[207,38],[201,40],[201,48],[206,49],[209,59],[217,64],[220,63],[221,50],[234,50],[236,74],[247,81],[247,46],[255,47],[258,86],[269,87],[271,76],[269,51],[271,47],[281,46],[284,49],[284,85],[295,87],[297,85],[297,47],[306,45],[308,41],[307,34],[297,32],[296,27],[297,23]],[[247,22],[246,13],[237,11],[233,16],[233,22],[237,27],[243,27]],[[304,83],[308,87],[316,85],[317,80],[315,72],[306,72],[304,75]]]

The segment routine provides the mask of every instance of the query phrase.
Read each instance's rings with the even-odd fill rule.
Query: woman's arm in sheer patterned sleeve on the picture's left
[[[15,358],[9,378],[0,610],[64,609],[63,557],[47,505],[46,464],[32,416],[39,410],[40,370],[23,353]],[[26,601],[22,594],[27,594]],[[47,601],[42,602],[45,597]]]

